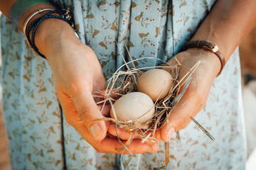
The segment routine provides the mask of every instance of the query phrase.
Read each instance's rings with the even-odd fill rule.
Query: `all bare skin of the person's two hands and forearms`
[[[13,3],[14,1],[0,1],[0,10],[8,16]],[[255,0],[217,1],[191,40],[200,39],[215,43],[228,62],[242,38],[255,26],[256,17],[252,17],[256,16],[255,6]],[[20,28],[23,26],[22,21],[26,20],[24,18],[28,16],[29,13],[22,16]],[[35,41],[38,49],[46,55],[52,69],[55,89],[67,122],[98,152],[120,153],[115,150],[121,147],[119,141],[106,136],[107,131],[116,135],[113,125],[107,121],[90,122],[103,118],[102,114],[108,115],[110,112],[110,107],[106,107],[101,113],[100,106],[95,103],[97,99],[92,98],[93,91],[105,89],[105,79],[93,50],[75,37],[67,23],[56,19],[47,19],[40,24]],[[164,142],[170,140],[177,130],[186,128],[191,122],[189,117],[194,117],[201,111],[208,98],[210,86],[220,71],[218,57],[206,50],[188,49],[175,57],[188,68],[198,61],[201,61],[201,64],[195,72],[198,83],[196,84],[196,79],[191,81],[183,98],[171,113],[169,123],[158,132]],[[176,64],[175,58],[169,63]],[[186,70],[181,68],[180,74],[181,78],[186,74]],[[80,123],[82,120],[87,121]],[[92,124],[97,125],[91,128]],[[128,139],[129,134],[124,130],[118,132],[123,140]],[[148,143],[142,144],[140,140],[133,140],[129,149],[133,153],[156,152],[158,148],[152,146],[151,148]]]

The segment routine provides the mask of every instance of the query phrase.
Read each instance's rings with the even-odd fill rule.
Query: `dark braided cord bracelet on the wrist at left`
[[[60,13],[62,16],[51,15],[53,13]],[[34,50],[38,55],[40,55],[41,57],[43,57],[45,59],[46,59],[46,57],[36,47],[35,34],[36,34],[36,30],[37,30],[39,24],[47,18],[57,18],[57,19],[66,21],[75,31],[75,35],[77,35],[78,39],[80,39],[79,35],[77,33],[77,30],[75,30],[75,26],[74,26],[73,22],[71,22],[72,17],[70,16],[69,10],[54,10],[54,11],[50,11],[49,13],[46,13],[46,15],[33,21],[33,23],[31,23],[31,25],[28,26],[28,28],[26,29],[26,38],[28,40],[28,44],[30,45],[31,49]],[[32,34],[31,34],[31,38],[30,38],[29,33],[31,32],[32,28],[33,28],[33,30],[32,30]]]

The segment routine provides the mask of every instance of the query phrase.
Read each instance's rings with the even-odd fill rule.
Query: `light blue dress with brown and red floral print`
[[[58,6],[63,1],[55,1]],[[213,0],[73,0],[75,26],[82,42],[100,60],[105,77],[123,64],[124,44],[134,59],[169,60],[191,38]],[[68,123],[55,95],[48,62],[28,49],[24,36],[1,16],[3,108],[13,169],[120,169],[120,157],[97,153]],[[126,60],[129,60],[126,57]],[[140,60],[137,67],[158,64]],[[196,115],[215,137],[211,141],[190,123],[170,145],[168,169],[244,169],[240,61],[234,52]],[[175,135],[174,135],[175,137]],[[164,165],[164,143],[155,155]],[[132,157],[128,169],[153,169],[150,153]]]

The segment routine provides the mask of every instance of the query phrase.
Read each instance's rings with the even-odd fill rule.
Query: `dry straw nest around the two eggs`
[[[115,113],[114,118],[104,118],[104,120],[111,120],[112,123],[115,123],[117,126],[119,126],[119,128],[122,128],[129,133],[132,132],[133,134],[139,136],[142,139],[142,142],[145,142],[146,140],[149,142],[156,142],[156,130],[159,130],[165,125],[165,123],[168,122],[171,111],[176,106],[176,103],[178,103],[178,101],[181,99],[181,96],[183,96],[186,88],[188,87],[188,84],[191,81],[191,75],[196,70],[200,62],[195,64],[190,69],[186,68],[188,70],[188,73],[182,79],[178,79],[179,69],[180,67],[184,67],[180,62],[178,62],[178,60],[178,64],[171,66],[167,62],[156,59],[155,57],[143,57],[137,60],[132,60],[132,57],[130,57],[130,62],[125,62],[124,57],[122,58],[124,64],[119,67],[119,69],[117,69],[117,71],[114,72],[112,77],[110,77],[110,79],[108,79],[107,81],[107,91],[105,91],[103,100],[99,102],[101,104],[103,103],[102,109],[107,103],[110,103],[113,109],[114,101],[117,101],[118,98],[124,96],[125,94],[137,91],[137,80],[144,72],[146,72],[146,70],[156,68],[166,68],[171,70],[170,74],[174,79],[171,90],[169,91],[169,94],[167,96],[159,101],[157,100],[154,103],[155,113],[144,125],[137,124],[132,120],[125,122],[122,120],[117,120]],[[136,68],[134,62],[138,62],[139,60],[159,60],[162,62],[162,64],[159,66]],[[181,88],[183,88],[182,91]],[[102,93],[101,91],[96,92],[98,94]],[[112,98],[113,94],[115,96],[114,98]],[[119,139],[118,135],[117,138]],[[129,145],[129,142],[131,141],[132,138],[129,139],[124,147],[121,149],[127,149],[127,145]]]

